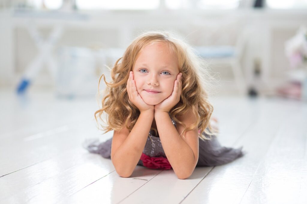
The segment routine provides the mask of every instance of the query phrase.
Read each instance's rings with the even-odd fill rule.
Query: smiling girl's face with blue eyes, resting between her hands
[[[133,67],[136,88],[146,104],[156,105],[168,98],[179,74],[177,57],[166,43],[147,45]]]

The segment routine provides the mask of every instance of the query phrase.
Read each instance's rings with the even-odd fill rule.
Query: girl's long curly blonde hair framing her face
[[[104,97],[101,100],[101,108],[95,111],[95,120],[98,123],[98,117],[103,121],[101,115],[105,115],[107,126],[100,125],[105,131],[103,134],[111,130],[121,130],[125,125],[128,130],[134,127],[140,111],[131,103],[128,97],[126,83],[129,77],[129,72],[132,71],[138,54],[142,49],[149,44],[156,42],[164,42],[177,55],[179,72],[182,73],[182,92],[180,101],[170,110],[170,115],[177,124],[183,125],[184,130],[180,133],[194,129],[196,126],[200,130],[199,137],[207,140],[212,139],[212,135],[218,133],[210,124],[210,117],[213,112],[213,106],[208,101],[208,91],[212,89],[212,85],[208,82],[214,81],[214,78],[209,74],[207,67],[198,55],[195,54],[184,40],[175,37],[175,34],[170,32],[151,31],[145,32],[138,36],[127,47],[123,56],[119,58],[114,67],[111,69],[112,81],[106,81],[105,75],[102,74],[98,82],[98,92],[100,80],[103,77],[107,87]],[[192,108],[196,115],[197,121],[189,127],[186,127],[177,116],[184,115],[189,108]],[[128,126],[129,119],[131,123]],[[98,123],[99,124],[99,123]],[[157,129],[151,127],[157,133]],[[207,138],[205,132],[210,138]]]

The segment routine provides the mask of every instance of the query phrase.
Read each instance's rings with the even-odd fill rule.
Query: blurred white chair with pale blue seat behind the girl
[[[211,66],[230,66],[239,93],[247,93],[240,60],[248,37],[248,28],[239,21],[197,23],[188,34],[196,52]],[[190,31],[191,31],[190,30]]]

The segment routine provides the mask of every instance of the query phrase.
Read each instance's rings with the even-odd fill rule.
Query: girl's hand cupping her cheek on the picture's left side
[[[138,94],[132,71],[130,71],[129,73],[129,78],[127,81],[126,88],[127,88],[129,100],[140,110],[140,112],[154,110],[154,105],[146,104],[144,100],[142,99],[142,97],[140,96],[140,94]]]

